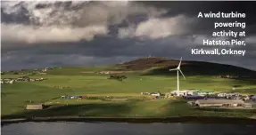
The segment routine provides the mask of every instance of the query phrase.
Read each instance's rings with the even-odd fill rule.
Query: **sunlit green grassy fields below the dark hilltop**
[[[95,74],[110,67],[62,67],[47,71],[47,75],[30,75],[31,78],[46,78],[43,82],[21,82],[2,84],[2,117],[20,116],[252,116],[254,111],[207,111],[189,107],[184,100],[153,99],[140,92],[176,90],[176,75],[139,75],[130,73],[120,82],[107,79],[109,75]],[[28,71],[27,71],[28,72]],[[186,74],[186,73],[185,73]],[[22,75],[2,75],[15,78]],[[256,94],[256,83],[252,81],[219,78],[214,75],[188,75],[180,79],[180,89],[202,89],[232,91],[233,85],[241,85],[235,91]],[[66,87],[63,89],[57,87]],[[67,88],[68,87],[68,88]],[[127,98],[124,101],[101,99],[61,99],[62,95],[113,96]],[[26,111],[30,103],[52,105],[45,110]]]

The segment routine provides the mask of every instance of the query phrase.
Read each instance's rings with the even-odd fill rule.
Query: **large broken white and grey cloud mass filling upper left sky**
[[[3,42],[27,44],[92,40],[107,35],[109,25],[120,24],[129,15],[156,17],[166,12],[131,2],[5,2],[1,8]],[[26,23],[4,21],[20,14]]]

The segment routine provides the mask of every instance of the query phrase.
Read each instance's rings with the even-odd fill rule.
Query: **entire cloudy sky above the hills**
[[[1,1],[1,69],[101,66],[152,56],[256,70],[255,6],[256,2]],[[198,12],[244,12],[246,18],[198,19]],[[205,47],[202,39],[213,39],[214,22],[235,20],[246,22],[246,46],[233,47],[246,50],[244,57],[191,54],[192,48]]]

